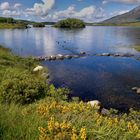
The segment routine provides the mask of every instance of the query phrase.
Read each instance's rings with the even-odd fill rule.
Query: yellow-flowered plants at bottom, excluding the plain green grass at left
[[[119,135],[122,140],[137,140],[140,137],[137,121],[130,121],[125,115],[102,116],[96,108],[84,102],[43,102],[37,106],[37,113],[48,120],[45,134],[53,139],[115,139]]]

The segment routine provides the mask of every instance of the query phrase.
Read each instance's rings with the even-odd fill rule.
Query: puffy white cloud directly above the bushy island
[[[89,6],[76,11],[74,6],[68,7],[66,10],[55,11],[50,13],[46,19],[57,21],[64,18],[79,18],[87,22],[99,21],[105,16],[102,8],[96,8],[95,6]]]

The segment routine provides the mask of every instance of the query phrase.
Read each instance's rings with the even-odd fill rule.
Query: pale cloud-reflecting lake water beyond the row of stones
[[[31,28],[0,30],[0,43],[13,48],[15,53],[23,56],[44,56],[80,51],[135,54],[136,51],[129,46],[140,44],[139,36],[140,28],[130,27],[87,27],[80,30]]]

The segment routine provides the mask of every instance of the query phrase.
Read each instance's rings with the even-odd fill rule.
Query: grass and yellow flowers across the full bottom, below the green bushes
[[[4,140],[140,139],[140,112],[134,110],[102,116],[86,103],[48,97],[28,106],[0,105],[0,114]]]

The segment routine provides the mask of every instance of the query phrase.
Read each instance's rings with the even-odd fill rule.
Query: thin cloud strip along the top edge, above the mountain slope
[[[108,2],[119,2],[119,3],[125,3],[125,4],[140,4],[140,0],[103,0],[103,4],[106,4]]]

